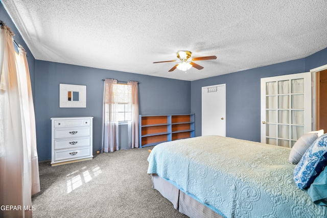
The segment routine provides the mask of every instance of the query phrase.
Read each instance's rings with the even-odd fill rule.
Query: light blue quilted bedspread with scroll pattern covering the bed
[[[221,136],[158,144],[148,174],[158,174],[226,217],[327,217],[293,181],[290,149]]]

